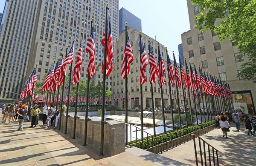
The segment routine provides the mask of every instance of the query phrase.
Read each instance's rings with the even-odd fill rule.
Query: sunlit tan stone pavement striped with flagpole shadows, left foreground
[[[98,149],[83,146],[83,141],[72,139],[71,135],[64,135],[61,131],[45,129],[41,121],[37,127],[29,126],[30,123],[25,122],[23,130],[18,131],[18,123],[0,123],[1,166],[186,165],[159,155],[155,158],[155,154],[136,148],[112,157],[99,156]],[[141,155],[137,155],[138,152]]]

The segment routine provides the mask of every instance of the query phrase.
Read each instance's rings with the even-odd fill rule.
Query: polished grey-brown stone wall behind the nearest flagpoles
[[[87,128],[87,144],[100,149],[101,124],[97,118],[90,118]],[[61,130],[65,130],[66,116],[61,116]],[[84,117],[76,120],[76,137],[84,140]],[[73,135],[74,118],[68,117],[67,133]],[[107,120],[104,129],[104,153],[110,156],[125,152],[125,125]]]

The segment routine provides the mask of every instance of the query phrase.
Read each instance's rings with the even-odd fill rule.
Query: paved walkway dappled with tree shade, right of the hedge
[[[237,132],[235,124],[231,122],[230,125],[231,129],[230,132],[228,132],[228,138],[222,137],[221,129],[212,130],[211,132],[202,135],[201,138],[219,151],[218,157],[220,166],[255,166],[256,136],[247,135],[248,130],[245,129],[243,125],[241,125],[240,132]],[[198,138],[196,138],[196,143],[199,161],[200,153]],[[168,157],[191,166],[196,165],[193,140],[170,149],[168,152],[163,152],[161,156]],[[201,163],[199,165],[201,165]]]

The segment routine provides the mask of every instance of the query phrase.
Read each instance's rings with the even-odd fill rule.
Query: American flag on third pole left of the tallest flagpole
[[[62,85],[63,77],[66,77],[67,65],[70,63],[73,63],[73,56],[74,56],[74,43],[71,46],[70,51],[67,54],[67,57],[65,58],[63,64],[61,65],[61,69],[60,69],[59,77],[58,77],[58,87],[60,87]]]

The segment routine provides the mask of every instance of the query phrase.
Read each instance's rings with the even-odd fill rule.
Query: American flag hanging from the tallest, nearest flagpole
[[[105,46],[105,32],[103,34],[103,37],[102,37],[102,46],[104,47]],[[112,69],[113,69],[113,63],[112,63],[112,59],[113,59],[113,56],[114,56],[114,53],[113,53],[113,43],[112,43],[112,34],[111,34],[111,21],[110,21],[110,18],[108,17],[108,41],[107,41],[107,54],[105,55],[106,56],[106,76],[108,77],[109,74],[112,72]],[[103,64],[103,61],[102,61],[102,74],[104,71],[104,64]]]

